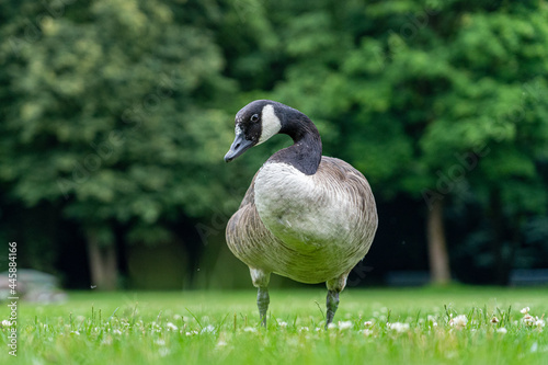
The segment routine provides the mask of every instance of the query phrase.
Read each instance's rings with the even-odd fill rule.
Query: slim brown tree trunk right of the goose
[[[431,281],[433,284],[448,284],[450,270],[445,241],[442,199],[435,199],[432,203],[426,226]]]

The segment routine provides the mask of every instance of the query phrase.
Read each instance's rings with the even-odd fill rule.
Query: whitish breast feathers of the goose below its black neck
[[[263,224],[278,239],[301,250],[316,250],[340,235],[335,192],[290,164],[264,164],[255,179],[255,205]]]

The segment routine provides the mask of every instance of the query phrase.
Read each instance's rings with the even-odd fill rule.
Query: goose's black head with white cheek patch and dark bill
[[[230,162],[253,146],[260,145],[282,130],[284,115],[289,106],[271,101],[255,100],[243,106],[235,118],[235,141],[225,155]]]

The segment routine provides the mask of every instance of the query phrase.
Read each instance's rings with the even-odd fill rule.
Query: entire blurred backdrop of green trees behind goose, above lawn
[[[0,271],[251,287],[226,223],[290,139],[222,157],[272,99],[372,184],[349,286],[546,283],[547,76],[547,1],[3,0]]]

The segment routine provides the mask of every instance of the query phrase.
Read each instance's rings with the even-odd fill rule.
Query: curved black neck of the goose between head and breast
[[[282,122],[281,134],[292,137],[294,145],[274,153],[269,161],[292,164],[300,172],[312,175],[321,162],[321,138],[312,121],[295,111]]]

